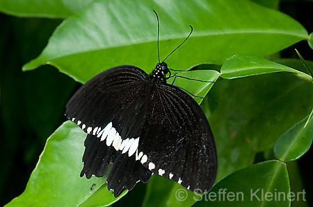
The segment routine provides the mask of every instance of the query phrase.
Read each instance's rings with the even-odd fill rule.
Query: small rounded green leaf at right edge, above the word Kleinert
[[[313,120],[307,125],[307,118],[282,134],[274,145],[274,152],[280,161],[288,162],[299,159],[312,145]]]

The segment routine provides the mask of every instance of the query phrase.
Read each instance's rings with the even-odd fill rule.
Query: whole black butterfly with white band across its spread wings
[[[67,118],[88,134],[81,177],[103,177],[111,163],[106,181],[115,197],[153,173],[188,190],[211,189],[217,172],[213,134],[198,103],[166,83],[169,70],[165,62],[150,75],[115,66],[72,96]]]

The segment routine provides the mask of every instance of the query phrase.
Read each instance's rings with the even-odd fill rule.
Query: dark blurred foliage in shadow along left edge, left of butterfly
[[[0,18],[2,206],[24,191],[47,137],[65,120],[64,106],[78,84],[51,66],[22,72],[61,21]]]

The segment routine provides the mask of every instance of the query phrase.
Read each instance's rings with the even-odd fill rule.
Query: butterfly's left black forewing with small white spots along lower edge
[[[98,132],[113,120],[118,123],[114,123],[115,129],[121,132],[130,117],[118,115],[138,105],[137,93],[146,76],[143,70],[127,65],[99,73],[74,94],[66,105],[65,114],[88,134],[93,134],[95,129]]]

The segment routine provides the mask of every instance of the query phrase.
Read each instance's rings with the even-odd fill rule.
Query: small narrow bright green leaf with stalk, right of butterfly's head
[[[252,55],[234,55],[230,57],[220,69],[220,76],[225,79],[233,79],[278,72],[293,73],[298,78],[310,83],[312,83],[313,80],[312,77],[306,73]]]

